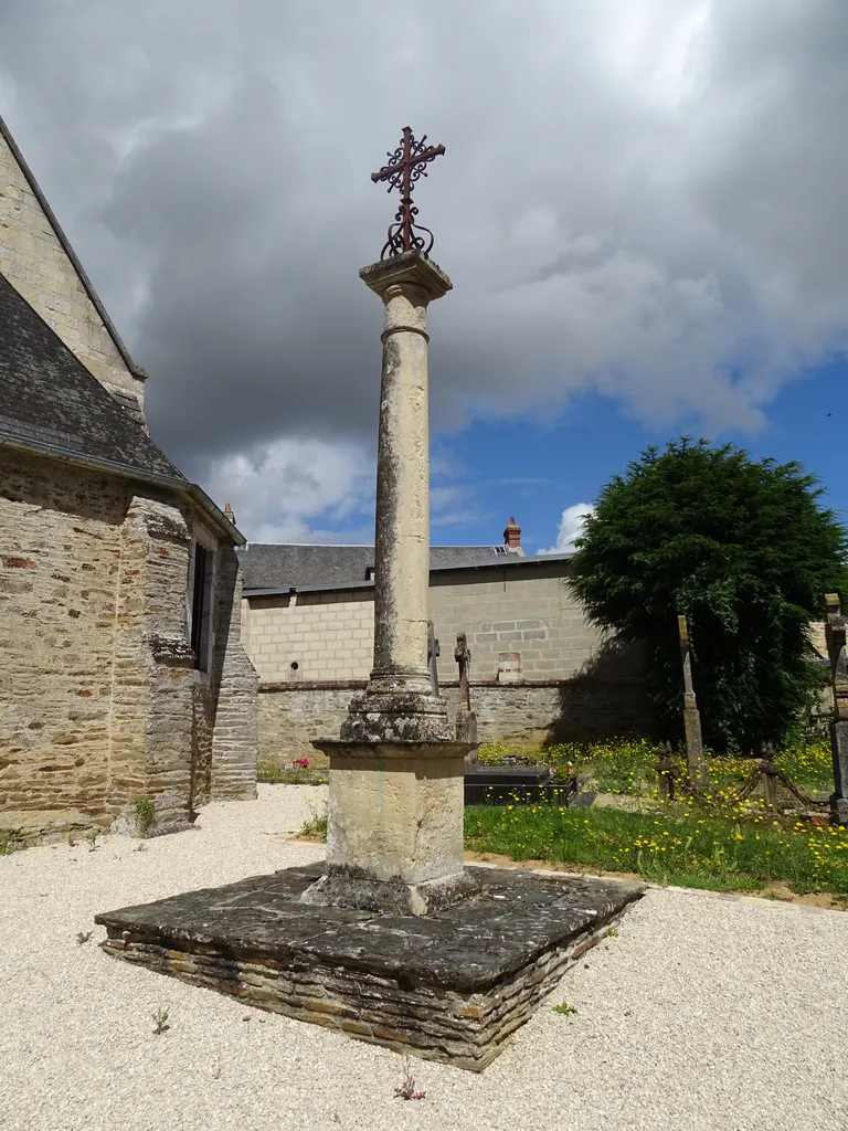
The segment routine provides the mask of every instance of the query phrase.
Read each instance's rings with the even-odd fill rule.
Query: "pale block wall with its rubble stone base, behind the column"
[[[453,647],[464,631],[482,741],[529,749],[644,726],[638,657],[611,647],[586,623],[563,585],[566,568],[554,561],[431,575],[440,683],[455,700]],[[252,597],[245,604],[245,647],[260,680],[259,756],[321,765],[312,740],[338,736],[351,697],[371,670],[373,590],[297,594],[294,604],[287,596]],[[501,653],[520,654],[520,683],[497,683]]]

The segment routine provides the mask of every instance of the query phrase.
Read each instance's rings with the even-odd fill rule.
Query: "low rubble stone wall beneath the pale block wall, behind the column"
[[[313,739],[338,737],[351,698],[364,681],[345,683],[260,683],[259,757],[283,765],[309,758],[326,765]],[[460,706],[457,683],[442,691],[451,711]],[[517,750],[646,733],[646,709],[638,680],[577,676],[563,681],[471,684],[481,742],[502,740]]]

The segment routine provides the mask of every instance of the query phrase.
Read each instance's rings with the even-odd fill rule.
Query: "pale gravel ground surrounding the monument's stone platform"
[[[0,858],[3,1131],[848,1126],[839,912],[651,890],[483,1076],[412,1061],[409,1103],[393,1053],[110,959],[102,927],[77,944],[95,912],[319,858],[286,835],[321,793],[262,786],[140,853]]]

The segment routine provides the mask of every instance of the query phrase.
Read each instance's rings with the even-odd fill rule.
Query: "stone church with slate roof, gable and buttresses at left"
[[[244,538],[146,378],[0,119],[0,844],[256,795]]]

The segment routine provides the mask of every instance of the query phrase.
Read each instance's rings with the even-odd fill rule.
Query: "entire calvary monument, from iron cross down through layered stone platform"
[[[443,146],[407,127],[382,300],[374,664],[330,759],[327,860],[103,913],[104,950],[245,1004],[481,1070],[641,888],[462,864],[464,762],[427,666],[430,259],[413,185]]]

